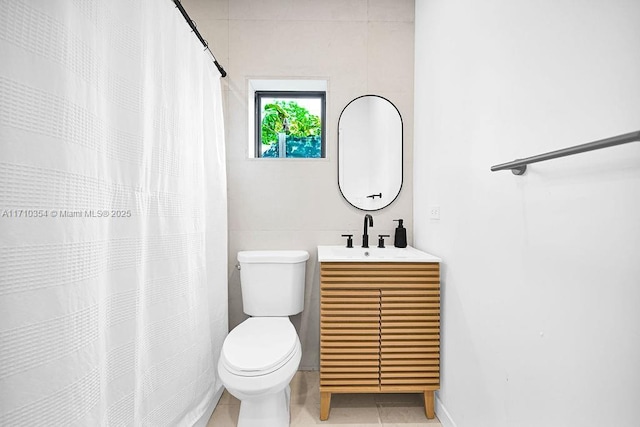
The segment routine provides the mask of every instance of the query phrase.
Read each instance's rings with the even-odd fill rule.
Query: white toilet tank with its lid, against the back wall
[[[240,251],[242,308],[249,316],[292,316],[304,308],[306,251]]]

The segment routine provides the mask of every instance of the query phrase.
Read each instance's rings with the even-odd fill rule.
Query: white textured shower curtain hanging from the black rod
[[[0,0],[0,425],[193,425],[227,333],[219,74],[170,0]]]

